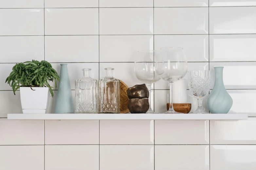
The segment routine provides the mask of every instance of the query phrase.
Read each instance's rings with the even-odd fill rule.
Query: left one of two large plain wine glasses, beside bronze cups
[[[150,106],[150,93],[152,83],[160,80],[156,74],[154,56],[161,56],[160,51],[156,50],[141,50],[137,52],[137,60],[134,63],[134,73],[136,77],[145,83],[149,90],[149,109],[147,113],[154,113]]]

